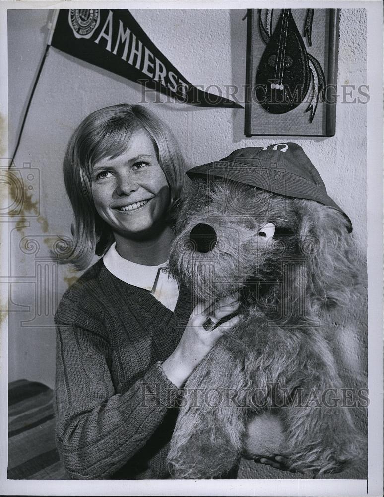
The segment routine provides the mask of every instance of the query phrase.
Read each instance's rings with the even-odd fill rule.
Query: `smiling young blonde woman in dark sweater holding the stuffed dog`
[[[238,307],[236,295],[193,306],[168,277],[184,173],[170,130],[138,105],[93,112],[70,139],[74,243],[63,262],[84,269],[103,255],[55,316],[56,442],[71,478],[169,478],[179,389]]]

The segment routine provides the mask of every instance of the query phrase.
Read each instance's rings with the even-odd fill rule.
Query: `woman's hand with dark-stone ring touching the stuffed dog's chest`
[[[163,370],[177,387],[181,387],[193,369],[204,359],[222,332],[240,319],[234,316],[215,327],[216,323],[239,307],[239,294],[207,304],[199,302],[194,308],[175,351],[163,362]],[[204,328],[205,326],[205,328]]]

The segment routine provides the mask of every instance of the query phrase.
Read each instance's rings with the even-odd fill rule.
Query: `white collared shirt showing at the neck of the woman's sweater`
[[[124,259],[116,250],[116,242],[107,250],[103,257],[105,267],[116,278],[129,285],[148,290],[165,307],[174,311],[179,297],[177,282],[168,274],[168,264],[144,266]]]

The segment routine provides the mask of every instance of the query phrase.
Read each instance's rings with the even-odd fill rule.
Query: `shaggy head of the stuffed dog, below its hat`
[[[228,161],[224,167],[233,171]],[[349,219],[316,200],[247,184],[254,170],[243,164],[241,181],[191,175],[178,205],[171,272],[196,300],[240,290],[243,309],[279,324],[310,323],[353,291]]]

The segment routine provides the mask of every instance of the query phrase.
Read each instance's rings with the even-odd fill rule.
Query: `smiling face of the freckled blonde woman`
[[[97,162],[91,180],[95,208],[114,233],[137,239],[164,219],[169,186],[145,131],[133,134],[120,156]]]

